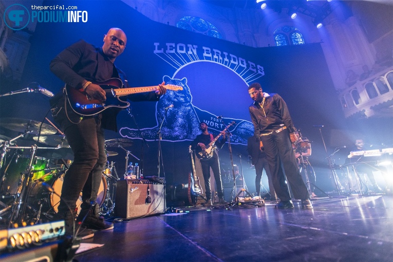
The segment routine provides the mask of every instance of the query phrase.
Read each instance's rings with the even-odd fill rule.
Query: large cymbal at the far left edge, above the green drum
[[[0,126],[20,133],[23,133],[26,129],[28,129],[29,131],[32,131],[33,134],[38,134],[41,122],[23,118],[8,117],[0,119]],[[57,130],[54,127],[45,123],[42,124],[41,135],[53,135],[56,133]]]

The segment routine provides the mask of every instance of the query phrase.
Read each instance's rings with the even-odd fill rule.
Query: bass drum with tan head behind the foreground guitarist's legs
[[[42,204],[42,211],[46,211],[49,213],[57,213],[58,206],[60,202],[60,197],[56,194],[49,193],[45,186],[42,185],[43,182],[50,184],[54,190],[61,196],[62,186],[64,181],[64,174],[58,175],[58,171],[52,171],[51,173],[46,174],[40,180],[33,181],[33,187],[29,194],[29,204],[35,208],[39,209]],[[97,203],[100,204],[100,207],[105,201],[107,191],[107,183],[104,175],[101,176],[100,189],[97,194]],[[82,192],[79,195],[77,200],[77,214],[81,212],[81,204],[82,204]]]

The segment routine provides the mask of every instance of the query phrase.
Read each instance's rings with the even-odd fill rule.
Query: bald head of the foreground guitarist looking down
[[[115,59],[124,51],[127,43],[127,36],[120,28],[110,28],[104,36],[102,51],[110,61]]]

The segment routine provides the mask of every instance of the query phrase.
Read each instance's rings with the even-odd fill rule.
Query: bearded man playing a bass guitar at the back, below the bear
[[[206,149],[206,146],[213,141],[213,135],[208,132],[208,125],[204,122],[199,123],[199,129],[202,131],[202,134],[196,136],[194,141],[191,143],[191,149],[195,150],[196,152],[200,152]],[[227,141],[225,136],[225,132],[221,131],[222,139],[217,140],[215,142],[215,146],[218,148],[222,148],[222,146]],[[212,203],[212,192],[210,187],[210,169],[213,171],[214,178],[217,184],[217,194],[218,194],[218,201],[220,204],[228,204],[224,200],[224,194],[222,190],[222,181],[221,181],[221,172],[220,172],[220,162],[218,159],[218,152],[217,150],[213,151],[213,157],[209,158],[208,160],[201,160],[200,161],[202,167],[202,174],[204,179],[204,186],[205,186],[205,193],[206,199],[205,205],[213,205]]]

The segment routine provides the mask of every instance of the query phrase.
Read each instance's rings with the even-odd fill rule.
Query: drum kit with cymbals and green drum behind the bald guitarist
[[[51,125],[22,118],[0,119],[2,133],[18,133],[14,138],[0,135],[0,228],[50,220],[58,211],[64,174],[73,156],[65,136],[58,135],[60,130],[49,123]],[[129,139],[105,141],[106,147],[124,149],[127,159],[132,154],[124,147],[131,145],[133,142]],[[118,155],[114,151],[106,153],[107,157]],[[97,197],[101,215],[114,212],[116,183],[120,180],[114,163],[107,161],[102,172]],[[52,189],[55,193],[50,192]],[[78,211],[81,199],[80,196]]]

